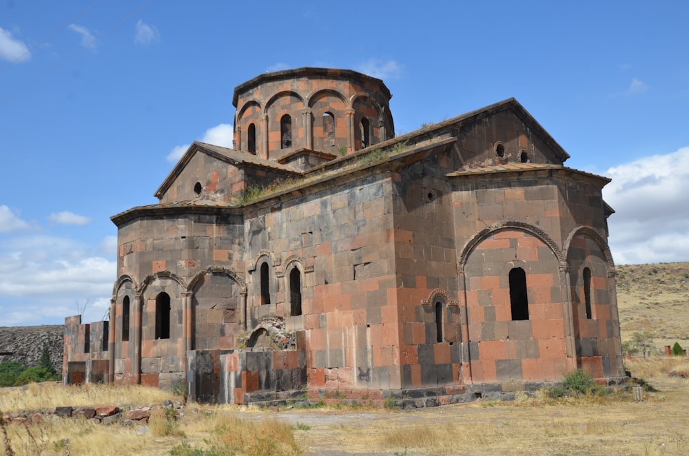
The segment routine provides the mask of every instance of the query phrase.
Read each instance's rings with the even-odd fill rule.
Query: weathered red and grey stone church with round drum
[[[63,381],[431,406],[620,380],[610,180],[515,99],[402,136],[390,99],[351,70],[238,85],[232,149],[112,217],[110,318],[65,320]]]

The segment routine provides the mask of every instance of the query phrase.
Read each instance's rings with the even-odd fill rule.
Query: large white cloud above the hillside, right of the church
[[[608,169],[603,189],[615,262],[689,260],[689,147]]]

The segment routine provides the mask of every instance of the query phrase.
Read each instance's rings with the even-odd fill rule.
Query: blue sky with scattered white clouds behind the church
[[[232,145],[266,71],[385,81],[397,134],[514,96],[612,177],[619,264],[689,260],[686,1],[0,2],[0,326],[107,312],[110,216],[194,140]]]

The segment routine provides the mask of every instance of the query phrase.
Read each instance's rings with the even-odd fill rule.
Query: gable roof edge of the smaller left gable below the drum
[[[219,145],[194,141],[194,143],[192,143],[192,145],[189,146],[189,149],[187,149],[187,152],[185,152],[182,158],[179,159],[174,168],[172,168],[172,171],[169,172],[165,180],[163,180],[163,183],[160,187],[158,187],[153,196],[155,196],[156,198],[161,198],[163,194],[165,194],[165,191],[167,191],[167,189],[169,189],[172,183],[174,183],[174,180],[182,173],[182,170],[189,164],[189,162],[192,160],[192,157],[197,152],[200,154],[212,156],[217,160],[224,161],[225,163],[229,163],[229,165],[234,165],[238,168],[250,166],[273,169],[274,171],[284,172],[285,174],[289,174],[290,176],[299,174],[290,167],[280,165],[280,163],[271,160],[266,160],[265,158],[261,158],[256,155],[249,154],[248,152],[240,152],[235,149],[229,149],[228,147],[221,147]]]

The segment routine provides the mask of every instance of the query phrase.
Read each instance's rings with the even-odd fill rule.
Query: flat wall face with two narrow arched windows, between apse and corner
[[[305,330],[309,388],[400,386],[390,179],[362,176],[247,218],[249,325],[277,315],[287,331]],[[263,262],[269,304],[258,298]],[[295,268],[300,315],[290,302]]]

